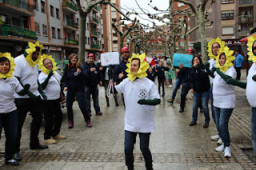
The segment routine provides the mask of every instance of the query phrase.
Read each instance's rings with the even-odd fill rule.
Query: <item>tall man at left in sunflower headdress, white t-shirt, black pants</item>
[[[32,44],[32,45],[31,45]],[[17,132],[17,142],[14,146],[14,160],[21,161],[22,156],[20,156],[20,144],[22,137],[22,126],[26,120],[26,114],[31,113],[32,122],[30,127],[30,149],[43,149],[48,148],[46,145],[42,145],[38,140],[38,132],[42,122],[42,97],[46,99],[42,88],[38,86],[38,61],[41,57],[42,45],[38,42],[29,42],[29,46],[26,47],[25,53],[15,57],[15,71],[14,76],[18,78],[21,85],[29,84],[30,90],[28,95],[19,96],[15,93],[15,104],[18,108],[18,132]],[[41,97],[42,96],[42,97]]]

